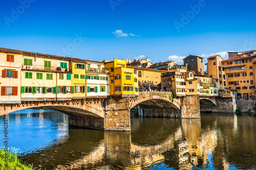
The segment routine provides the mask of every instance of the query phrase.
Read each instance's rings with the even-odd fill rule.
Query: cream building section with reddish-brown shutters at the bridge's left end
[[[0,48],[0,103],[20,103],[22,52]]]

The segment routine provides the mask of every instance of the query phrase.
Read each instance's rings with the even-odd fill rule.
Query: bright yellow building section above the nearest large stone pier
[[[134,69],[127,68],[125,60],[114,59],[103,63],[110,71],[110,94],[134,95]]]

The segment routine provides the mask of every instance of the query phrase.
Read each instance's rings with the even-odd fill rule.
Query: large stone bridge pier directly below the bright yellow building
[[[129,99],[123,100],[120,97],[118,99],[111,97],[106,101],[104,130],[131,131],[129,104]]]

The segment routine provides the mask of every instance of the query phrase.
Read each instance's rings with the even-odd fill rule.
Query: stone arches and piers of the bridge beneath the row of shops
[[[202,100],[200,100],[200,98]],[[13,111],[47,107],[69,115],[69,125],[84,128],[130,131],[130,109],[139,106],[140,114],[152,117],[179,117],[200,118],[200,104],[205,110],[214,110],[218,105],[215,97],[201,97],[199,95],[186,95],[172,98],[171,92],[146,91],[139,95],[116,95],[107,98],[72,98],[66,101],[47,99],[36,101],[22,99],[20,104],[0,104],[0,115]],[[221,101],[223,103],[223,101]],[[229,101],[230,102],[230,101]],[[224,102],[225,103],[225,102]],[[232,110],[231,104],[223,105]],[[218,111],[218,109],[216,109]],[[235,110],[235,109],[233,109]]]

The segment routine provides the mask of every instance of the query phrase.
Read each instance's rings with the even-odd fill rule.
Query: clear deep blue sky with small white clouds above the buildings
[[[255,1],[0,1],[0,46],[103,61],[256,50]],[[205,62],[205,60],[204,60]]]

